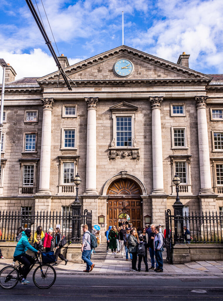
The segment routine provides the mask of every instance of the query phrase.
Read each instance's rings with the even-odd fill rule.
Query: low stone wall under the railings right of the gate
[[[177,244],[173,246],[173,264],[200,260],[223,260],[220,244]]]

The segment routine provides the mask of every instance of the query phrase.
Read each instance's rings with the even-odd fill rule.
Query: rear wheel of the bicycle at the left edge
[[[10,289],[16,286],[19,281],[19,273],[16,268],[6,266],[0,271],[0,286]]]

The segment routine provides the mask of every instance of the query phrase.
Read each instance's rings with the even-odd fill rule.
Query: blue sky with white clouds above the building
[[[41,0],[36,2],[53,42]],[[185,51],[191,69],[223,73],[222,0],[42,2],[59,53],[70,65],[122,45],[124,11],[125,45],[175,63]],[[16,79],[57,70],[25,0],[1,0],[0,57],[14,67]]]

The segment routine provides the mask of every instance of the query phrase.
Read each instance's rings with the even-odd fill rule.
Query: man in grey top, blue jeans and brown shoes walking
[[[81,247],[82,259],[86,263],[86,270],[83,272],[89,273],[94,268],[94,263],[91,262],[91,233],[88,231],[88,225],[82,227],[84,235]]]

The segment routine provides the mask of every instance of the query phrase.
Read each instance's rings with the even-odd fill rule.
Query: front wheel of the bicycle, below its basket
[[[33,272],[33,282],[39,288],[49,288],[56,281],[56,271],[49,264],[38,266]]]

